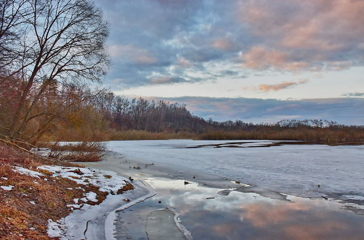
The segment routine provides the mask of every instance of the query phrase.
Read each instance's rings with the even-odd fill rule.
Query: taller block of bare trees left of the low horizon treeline
[[[177,102],[150,101],[142,97],[129,100],[111,91],[96,95],[91,101],[116,129],[202,132],[209,125],[202,117],[191,114],[185,104]]]

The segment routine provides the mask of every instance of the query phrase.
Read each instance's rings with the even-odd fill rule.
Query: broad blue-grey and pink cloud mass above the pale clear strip
[[[112,24],[113,88],[364,65],[363,0],[96,2]]]

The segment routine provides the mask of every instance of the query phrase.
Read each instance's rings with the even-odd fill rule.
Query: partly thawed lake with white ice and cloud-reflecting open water
[[[116,154],[91,167],[131,176],[157,191],[118,212],[115,239],[146,240],[149,214],[168,207],[181,213],[194,240],[364,240],[363,145],[268,140],[108,144]]]

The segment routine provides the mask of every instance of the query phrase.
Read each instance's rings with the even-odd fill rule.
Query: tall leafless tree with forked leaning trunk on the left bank
[[[101,83],[111,65],[105,45],[109,24],[90,0],[29,0],[24,38],[32,59],[21,69],[24,88],[8,135],[17,138],[34,117],[46,90],[56,83]],[[30,10],[29,10],[30,9]]]

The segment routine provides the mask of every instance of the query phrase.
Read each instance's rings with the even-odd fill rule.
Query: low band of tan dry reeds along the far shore
[[[85,141],[88,135],[63,135],[62,141]],[[355,127],[335,128],[284,128],[277,126],[259,126],[254,130],[208,130],[203,133],[193,131],[150,132],[147,130],[116,130],[108,129],[92,134],[92,141],[117,141],[117,140],[165,140],[165,139],[195,139],[195,140],[306,140],[306,141],[364,141],[364,130]]]

